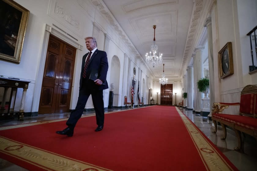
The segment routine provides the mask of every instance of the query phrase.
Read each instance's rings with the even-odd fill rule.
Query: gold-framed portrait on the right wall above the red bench
[[[234,74],[232,43],[227,42],[226,45],[218,53],[219,75],[225,78]]]

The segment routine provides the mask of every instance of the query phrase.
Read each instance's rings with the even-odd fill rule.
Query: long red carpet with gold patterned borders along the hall
[[[1,130],[1,158],[29,170],[237,170],[175,107],[106,114],[100,132],[84,117],[73,137],[55,133],[65,122]]]

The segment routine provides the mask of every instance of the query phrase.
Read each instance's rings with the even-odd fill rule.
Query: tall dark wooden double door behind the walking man
[[[76,48],[50,35],[39,114],[69,112]]]

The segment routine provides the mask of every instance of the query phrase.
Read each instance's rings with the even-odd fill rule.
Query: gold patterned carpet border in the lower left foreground
[[[45,170],[110,171],[0,136],[0,151]]]

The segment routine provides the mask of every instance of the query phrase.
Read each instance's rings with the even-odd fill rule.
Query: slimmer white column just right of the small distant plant
[[[188,66],[188,106],[187,109],[193,110],[194,101],[194,69],[193,66]]]

